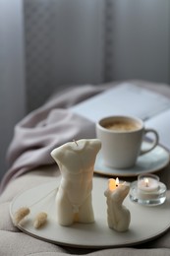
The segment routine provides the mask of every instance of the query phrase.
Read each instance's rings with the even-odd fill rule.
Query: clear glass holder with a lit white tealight
[[[166,190],[157,175],[142,174],[131,184],[130,200],[145,206],[161,205],[166,200]]]

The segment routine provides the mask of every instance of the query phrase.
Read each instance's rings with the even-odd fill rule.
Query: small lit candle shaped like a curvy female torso
[[[104,192],[107,198],[107,223],[110,228],[117,231],[126,231],[131,222],[131,213],[123,205],[129,190],[126,182],[119,184],[118,179],[109,179],[108,188]]]

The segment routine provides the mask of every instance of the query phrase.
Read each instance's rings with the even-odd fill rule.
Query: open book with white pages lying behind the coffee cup
[[[97,122],[110,115],[134,115],[145,127],[159,133],[160,144],[170,151],[170,98],[124,83],[71,107],[85,118]]]

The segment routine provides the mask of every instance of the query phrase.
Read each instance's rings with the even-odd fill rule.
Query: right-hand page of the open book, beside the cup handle
[[[170,109],[145,121],[145,127],[155,129],[159,134],[159,143],[170,151]]]

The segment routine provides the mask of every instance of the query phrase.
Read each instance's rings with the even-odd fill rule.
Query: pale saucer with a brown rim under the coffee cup
[[[147,145],[148,143],[144,142],[144,147],[147,147]],[[134,167],[128,169],[116,169],[105,165],[99,153],[95,161],[94,172],[107,176],[137,176],[142,173],[158,171],[166,166],[169,163],[169,160],[170,153],[163,147],[157,146],[151,152],[139,157]]]

